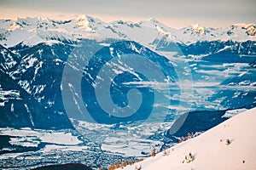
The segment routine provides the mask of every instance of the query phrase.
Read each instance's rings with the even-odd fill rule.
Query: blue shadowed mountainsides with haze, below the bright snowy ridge
[[[102,46],[103,43],[104,46]],[[166,114],[164,109],[168,108],[170,113],[175,114],[184,112],[189,107],[192,111],[216,111],[253,106],[255,102],[256,80],[253,65],[255,47],[250,41],[196,42],[189,46],[177,43],[175,47],[180,51],[172,58],[168,58],[168,52],[163,49],[153,52],[137,42],[84,40],[83,44],[87,48],[79,49],[80,44],[79,42],[53,44],[43,42],[31,47],[22,44],[12,48],[0,47],[1,127],[73,128],[67,117],[67,109],[74,115],[74,118],[83,118],[83,116],[75,116],[81,115],[82,105],[86,106],[96,122],[115,123],[145,120],[153,109],[158,109],[156,111],[160,114]],[[170,44],[158,45],[168,48]],[[90,51],[88,47],[99,50],[96,54],[92,54],[90,62],[84,66],[86,62],[84,54]],[[184,56],[181,56],[182,53]],[[164,72],[165,77],[161,79],[169,79],[170,82],[177,84],[183,81],[181,74],[185,74],[186,71],[177,75],[176,69],[183,66],[180,63],[186,63],[187,66],[184,69],[189,69],[193,80],[190,82],[193,85],[191,89],[193,96],[182,97],[178,87],[169,88],[170,94],[160,99],[160,101],[169,100],[167,105],[156,103],[153,94],[154,87],[152,87],[155,81],[148,80],[147,77],[133,71],[133,68],[127,67],[126,62],[131,62],[129,58],[128,60],[119,59],[120,55],[125,54],[140,55],[150,60],[150,63],[156,65],[155,68]],[[73,56],[73,59],[70,59],[70,56]],[[114,59],[116,63],[111,63]],[[180,59],[181,61],[177,62]],[[231,62],[232,59],[235,59],[234,63]],[[108,69],[117,73],[113,80],[108,75],[99,76],[99,72],[107,63],[109,63]],[[70,74],[63,76],[66,65],[69,65],[71,69]],[[157,77],[155,71],[147,67],[146,63],[135,62],[131,65],[135,67],[144,65],[142,67],[144,72],[148,71]],[[73,73],[82,73],[83,77],[75,81],[74,75],[77,74]],[[71,82],[61,84],[63,77],[68,77]],[[109,93],[113,105],[120,108],[129,104],[127,99],[129,89],[137,88],[143,94],[143,102],[137,114],[131,117],[116,118],[102,110],[102,105],[97,103],[95,94],[98,87],[96,80],[101,78],[105,82],[108,79],[108,81],[113,81],[110,84]],[[158,90],[161,92],[166,90],[160,85],[157,87]],[[70,94],[63,94],[63,87],[69,90]],[[80,91],[82,94],[77,96]],[[182,99],[184,97],[185,99]],[[63,105],[63,98],[67,99],[66,105]]]

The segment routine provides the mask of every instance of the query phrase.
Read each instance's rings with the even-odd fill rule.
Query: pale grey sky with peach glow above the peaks
[[[256,0],[0,0],[0,19],[65,20],[79,14],[108,22],[154,18],[173,28],[191,24],[225,27],[255,24]]]

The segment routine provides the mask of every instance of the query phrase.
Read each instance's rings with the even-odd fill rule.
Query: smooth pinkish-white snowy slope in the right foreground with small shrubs
[[[256,108],[213,127],[194,139],[124,169],[255,169]],[[230,144],[226,144],[230,139]],[[194,161],[186,162],[189,152]]]

